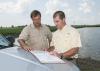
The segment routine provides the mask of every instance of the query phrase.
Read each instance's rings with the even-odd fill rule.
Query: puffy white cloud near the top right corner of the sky
[[[79,10],[83,11],[84,13],[90,13],[92,11],[92,7],[95,3],[91,0],[82,0],[83,2],[80,3]]]

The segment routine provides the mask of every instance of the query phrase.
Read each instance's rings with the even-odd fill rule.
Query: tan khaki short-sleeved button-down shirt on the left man
[[[19,39],[25,40],[25,43],[36,50],[42,50],[49,47],[49,41],[52,39],[52,33],[45,25],[40,27],[40,30],[36,29],[33,24],[26,26]]]

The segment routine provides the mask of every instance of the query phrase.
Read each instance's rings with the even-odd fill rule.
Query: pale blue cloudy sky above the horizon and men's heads
[[[67,24],[100,24],[100,0],[0,0],[0,26],[32,23],[30,13],[39,10],[42,24],[54,25],[53,13],[64,11]]]

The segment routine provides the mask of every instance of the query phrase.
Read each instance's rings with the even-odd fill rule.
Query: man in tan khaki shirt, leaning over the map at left
[[[41,24],[41,13],[39,11],[32,11],[31,19],[33,24],[22,30],[18,42],[26,51],[44,50],[49,47],[52,33],[47,26]]]

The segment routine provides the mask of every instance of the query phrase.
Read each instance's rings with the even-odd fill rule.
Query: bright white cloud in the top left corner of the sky
[[[21,13],[24,7],[32,3],[34,0],[17,0],[17,3],[13,1],[0,3],[0,12],[7,13]]]

